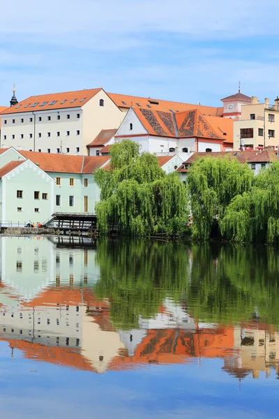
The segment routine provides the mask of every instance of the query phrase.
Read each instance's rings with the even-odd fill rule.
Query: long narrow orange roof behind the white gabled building
[[[190,109],[199,109],[203,115],[211,115],[218,117],[223,114],[223,107],[214,108],[212,106],[192,105],[190,103],[162,101],[161,99],[142,98],[140,96],[128,96],[126,94],[107,93],[108,96],[119,106],[119,108],[130,108],[137,106],[137,108],[163,110],[169,112],[181,112]],[[138,104],[138,105],[137,105]]]

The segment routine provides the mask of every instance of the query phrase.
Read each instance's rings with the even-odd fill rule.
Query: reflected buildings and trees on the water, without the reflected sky
[[[24,358],[96,373],[223,360],[279,376],[273,248],[1,237],[0,337]]]

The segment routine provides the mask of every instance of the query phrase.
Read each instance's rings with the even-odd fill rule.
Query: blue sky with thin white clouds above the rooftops
[[[1,8],[0,105],[105,91],[202,105],[279,95],[278,0],[14,0]]]

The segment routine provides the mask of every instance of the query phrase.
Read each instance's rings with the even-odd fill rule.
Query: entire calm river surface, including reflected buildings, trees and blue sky
[[[278,418],[279,253],[0,238],[10,418]]]

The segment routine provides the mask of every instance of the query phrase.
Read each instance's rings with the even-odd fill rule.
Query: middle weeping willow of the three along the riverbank
[[[209,156],[193,163],[187,181],[193,237],[207,240],[214,221],[220,223],[232,198],[250,191],[253,173],[236,159]]]

